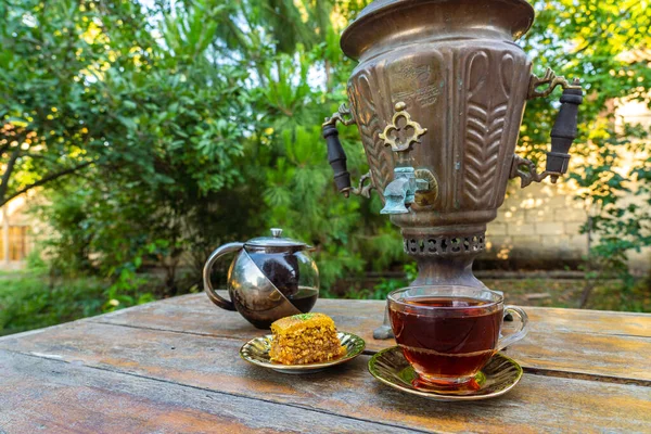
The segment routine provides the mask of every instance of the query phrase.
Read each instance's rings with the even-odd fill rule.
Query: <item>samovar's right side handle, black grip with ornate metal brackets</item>
[[[538,90],[541,85],[548,85],[548,87]],[[547,97],[557,86],[563,87],[563,94],[561,95],[561,108],[550,133],[551,151],[547,153],[546,170],[539,174],[532,161],[513,155],[510,178],[519,177],[522,188],[534,181],[540,182],[547,177],[550,177],[551,182],[556,183],[559,177],[567,173],[569,151],[576,138],[578,106],[583,102],[583,89],[578,78],[575,78],[571,85],[564,77],[557,76],[551,68],[547,68],[542,78],[532,75],[527,99]]]

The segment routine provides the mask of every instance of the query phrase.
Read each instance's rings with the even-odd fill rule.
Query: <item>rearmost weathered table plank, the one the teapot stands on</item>
[[[375,341],[372,330],[383,318],[382,302],[320,299],[315,310],[332,316],[340,330],[359,334],[367,348],[379,350],[394,341]],[[651,381],[651,315],[578,309],[525,308],[529,335],[508,354],[525,368],[558,370],[627,380]],[[247,340],[265,334],[237,312],[214,307],[203,294],[97,317],[110,322]]]

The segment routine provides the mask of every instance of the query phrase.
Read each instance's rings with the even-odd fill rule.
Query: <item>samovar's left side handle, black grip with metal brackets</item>
[[[346,118],[346,116],[349,117]],[[369,171],[359,179],[359,186],[356,188],[352,187],[350,173],[346,165],[346,151],[344,151],[344,146],[342,146],[336,129],[337,123],[345,126],[355,124],[353,114],[346,104],[340,105],[339,111],[333,113],[331,117],[327,117],[321,126],[323,139],[326,139],[326,143],[328,144],[328,162],[334,171],[334,183],[337,190],[346,197],[353,193],[368,199],[371,196],[371,190],[373,189],[373,186],[370,182],[371,173]],[[366,183],[367,181],[369,181],[368,184]]]

